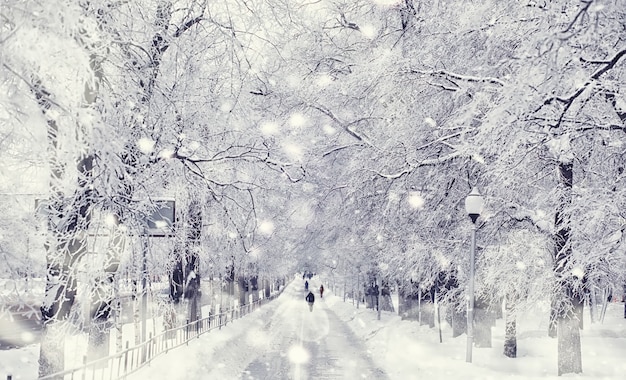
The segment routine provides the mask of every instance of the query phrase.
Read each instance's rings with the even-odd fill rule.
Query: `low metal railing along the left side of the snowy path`
[[[211,330],[220,329],[222,326],[226,326],[228,322],[253,312],[263,304],[278,297],[284,289],[285,286],[282,286],[280,291],[270,297],[238,307],[231,307],[219,314],[188,322],[154,337],[150,334],[148,340],[134,347],[129,348],[128,342],[126,342],[126,349],[123,351],[84,363],[80,367],[40,377],[38,380],[116,380],[125,378],[149,364],[155,357],[176,347],[189,344],[192,339],[199,338]]]

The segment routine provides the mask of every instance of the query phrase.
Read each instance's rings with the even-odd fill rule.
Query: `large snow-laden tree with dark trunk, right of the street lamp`
[[[559,374],[582,371],[579,309],[588,279],[600,275],[596,272],[600,268],[606,268],[600,265],[601,255],[612,256],[604,247],[601,255],[592,253],[597,249],[587,244],[589,235],[581,232],[590,223],[597,223],[595,218],[583,217],[590,210],[589,203],[582,199],[590,191],[604,194],[607,185],[614,187],[614,173],[620,166],[605,170],[605,176],[591,174],[598,157],[619,162],[612,159],[616,151],[610,144],[602,147],[596,143],[599,139],[616,138],[617,131],[623,130],[619,110],[611,112],[612,102],[605,96],[613,92],[614,83],[624,80],[623,70],[616,67],[624,53],[619,49],[619,33],[615,33],[623,12],[614,5],[553,2],[520,9],[519,15],[527,13],[526,20],[530,22],[524,23],[524,29],[531,38],[518,40],[510,52],[525,54],[534,65],[509,66],[502,91],[493,103],[495,107],[487,111],[477,138],[473,139],[488,162],[490,178],[507,188],[514,179],[511,170],[526,172],[522,178],[535,178],[527,184],[515,184],[519,193],[530,196],[528,199],[520,202],[504,195],[510,203],[503,206],[514,205],[509,209],[514,210],[514,218],[527,219],[543,229],[547,225],[553,231],[552,294]],[[615,12],[605,13],[607,9]],[[506,35],[506,31],[502,33]],[[589,55],[594,58],[588,58]],[[605,75],[611,80],[604,81]],[[590,143],[593,150],[589,149]],[[490,187],[504,193],[497,190],[496,183]],[[607,198],[608,204],[621,202],[619,197],[611,198]],[[545,211],[550,208],[552,211]],[[604,217],[608,220],[615,218],[611,209],[605,209],[608,212]],[[548,217],[540,217],[542,213]],[[614,231],[615,225],[611,233]]]

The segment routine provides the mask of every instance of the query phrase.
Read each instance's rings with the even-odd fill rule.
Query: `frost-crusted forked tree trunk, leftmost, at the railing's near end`
[[[48,118],[48,162],[50,164],[50,200],[48,203],[48,237],[46,240],[46,287],[41,305],[43,331],[39,354],[39,376],[63,370],[64,324],[76,297],[73,267],[87,252],[87,233],[93,203],[93,156],[78,158],[78,181],[72,197],[64,195],[62,181],[67,166],[60,159],[59,126],[48,112],[51,94],[36,82],[33,92],[39,107]]]

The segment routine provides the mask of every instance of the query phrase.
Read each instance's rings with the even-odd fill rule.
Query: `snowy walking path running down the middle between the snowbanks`
[[[313,311],[304,293],[287,289],[268,324],[275,330],[270,348],[244,371],[249,379],[357,379],[385,378],[367,357],[365,345],[319,296]]]

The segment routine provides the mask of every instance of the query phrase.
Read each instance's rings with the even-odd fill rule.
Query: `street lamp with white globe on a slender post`
[[[467,351],[465,361],[472,362],[472,346],[474,344],[474,271],[476,256],[476,220],[483,211],[483,196],[474,187],[465,198],[465,211],[472,219],[472,246],[470,249],[469,304],[467,307]]]

